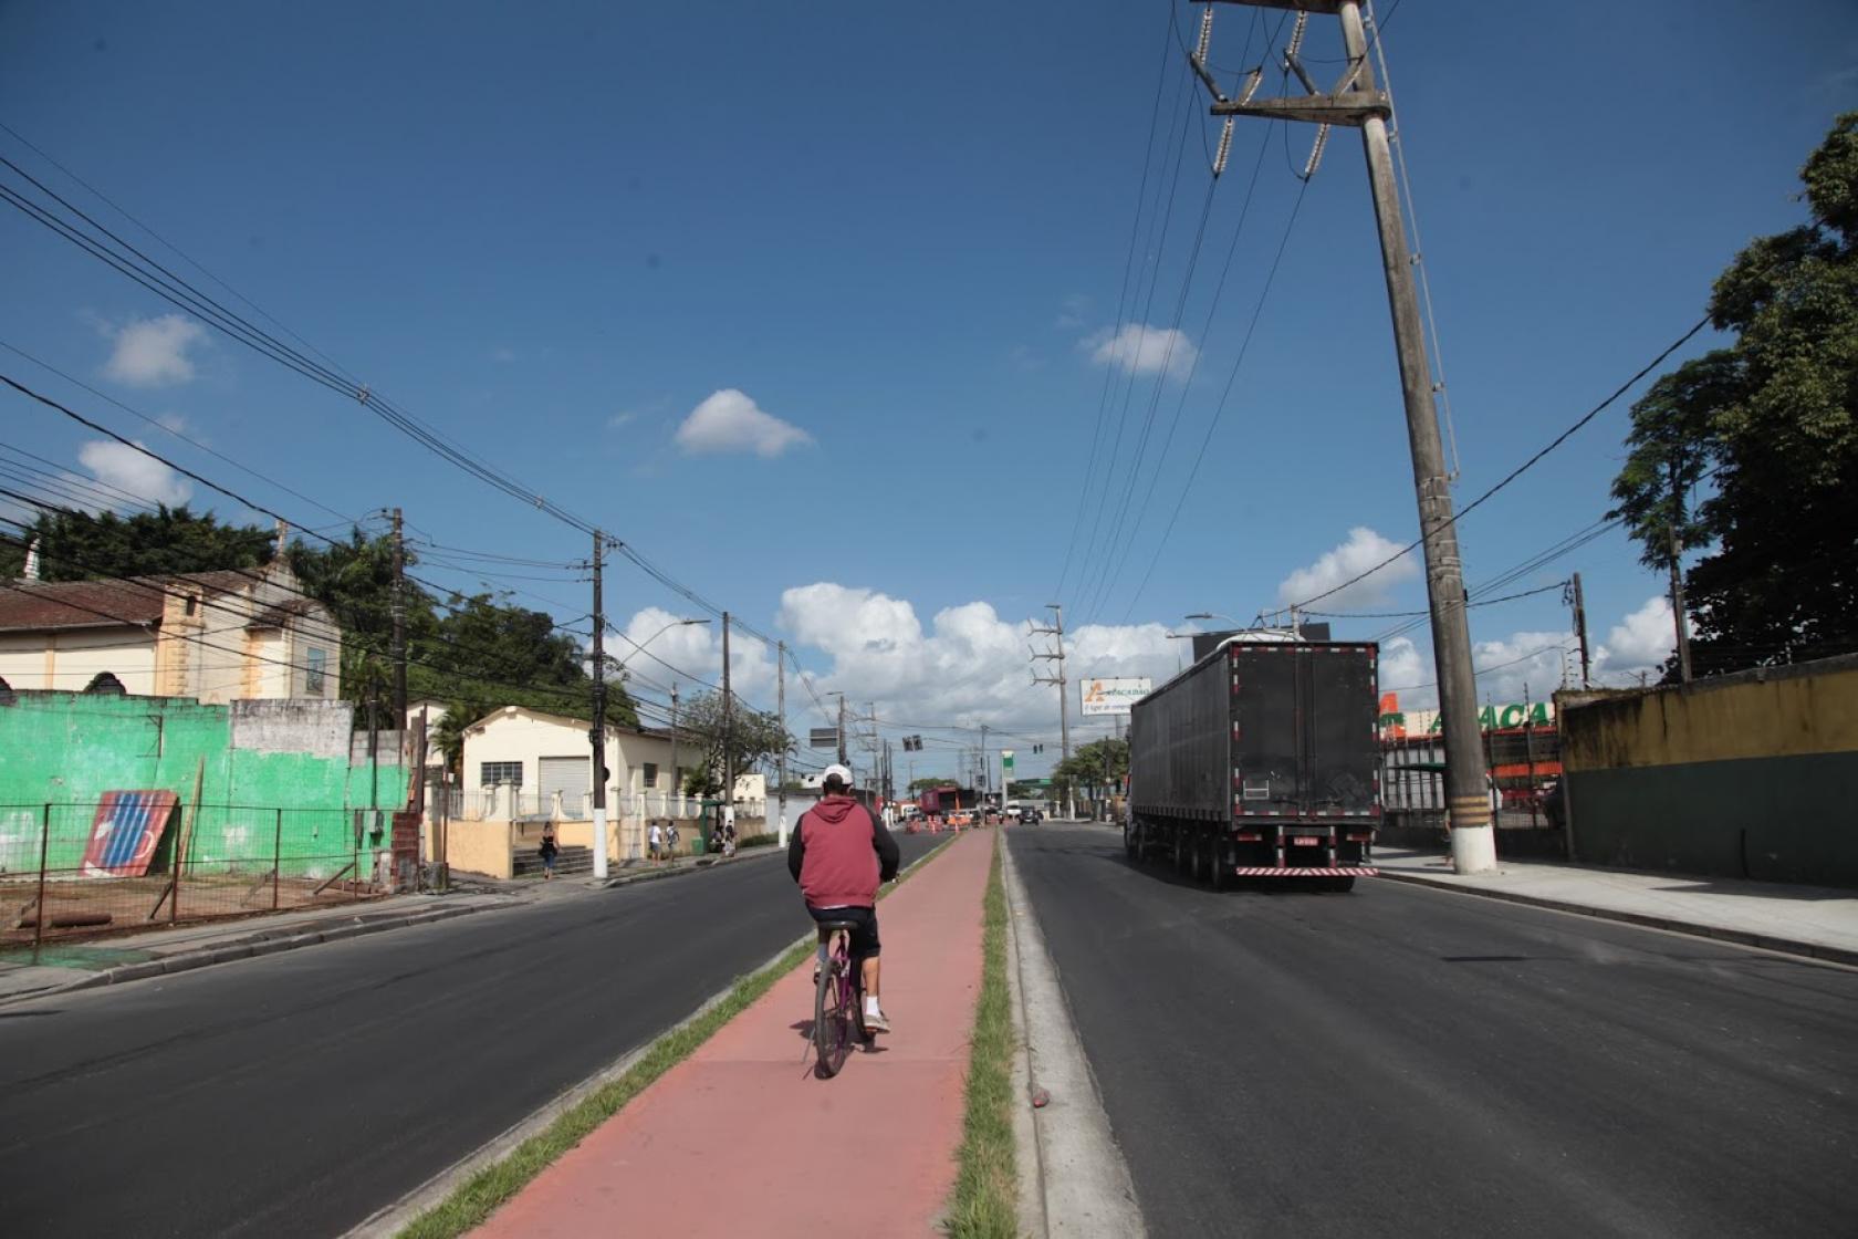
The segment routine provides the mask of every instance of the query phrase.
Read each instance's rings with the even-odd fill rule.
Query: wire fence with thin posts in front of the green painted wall
[[[106,817],[97,804],[0,804],[0,949],[383,893],[385,812],[182,804],[139,838]]]

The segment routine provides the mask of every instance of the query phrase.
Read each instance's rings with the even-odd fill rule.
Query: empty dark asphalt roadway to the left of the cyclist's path
[[[6,1007],[0,1230],[340,1233],[810,923],[779,858],[552,893]]]

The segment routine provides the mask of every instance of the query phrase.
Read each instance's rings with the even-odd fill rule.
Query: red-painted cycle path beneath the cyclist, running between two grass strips
[[[879,903],[897,1031],[877,1053],[814,1077],[803,964],[476,1233],[933,1235],[955,1185],[996,834],[959,838]]]

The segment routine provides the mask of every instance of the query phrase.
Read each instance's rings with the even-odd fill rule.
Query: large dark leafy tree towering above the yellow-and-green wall
[[[1648,567],[1704,550],[1685,574],[1696,674],[1858,650],[1858,111],[1800,178],[1810,223],[1717,279],[1709,318],[1734,344],[1633,405],[1613,483]]]

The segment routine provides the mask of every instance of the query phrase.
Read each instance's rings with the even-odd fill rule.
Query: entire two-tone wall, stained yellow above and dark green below
[[[1858,886],[1858,658],[1563,698],[1572,854]]]

